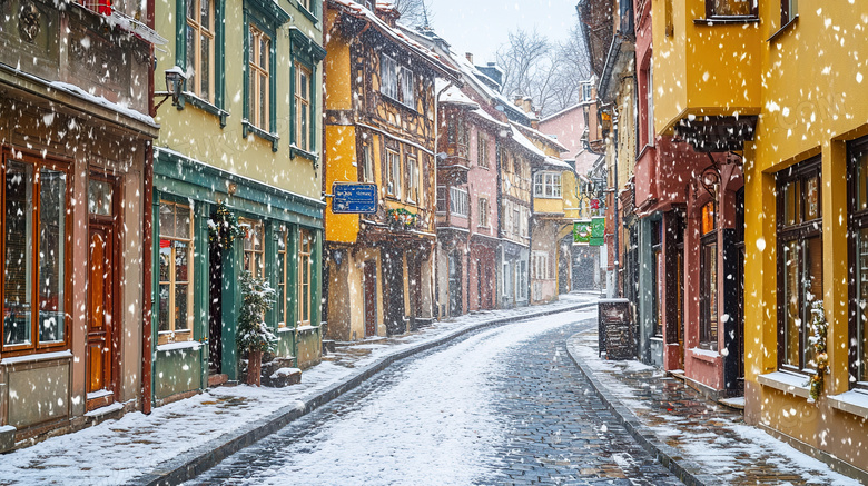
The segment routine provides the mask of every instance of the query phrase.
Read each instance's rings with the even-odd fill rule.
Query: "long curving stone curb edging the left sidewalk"
[[[586,309],[595,306],[596,302],[579,304],[558,309],[543,310],[540,313],[529,313],[521,316],[511,316],[482,321],[455,330],[437,339],[420,343],[418,345],[408,349],[404,349],[403,351],[397,351],[392,355],[384,356],[379,360],[363,368],[361,373],[335,384],[325,391],[322,391],[305,401],[297,400],[294,405],[287,405],[286,407],[278,409],[267,417],[246,424],[244,427],[235,430],[234,433],[216,437],[203,444],[201,446],[196,447],[195,449],[181,453],[175,459],[166,463],[162,467],[155,468],[149,473],[138,476],[128,484],[137,486],[165,486],[177,485],[194,479],[220,463],[226,457],[237,453],[238,450],[254,444],[262,438],[267,437],[268,435],[274,434],[275,432],[287,426],[289,423],[316,410],[323,405],[356,388],[357,386],[365,383],[368,378],[386,369],[393,363],[428,350],[431,348],[442,346],[468,333],[520,320],[550,316],[553,314]]]

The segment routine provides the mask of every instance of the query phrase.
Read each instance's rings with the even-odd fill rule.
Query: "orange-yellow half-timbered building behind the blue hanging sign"
[[[328,336],[402,334],[434,314],[434,80],[457,75],[396,27],[397,12],[326,0],[325,184],[373,182],[376,214],[326,209]],[[369,2],[374,3],[374,2]]]

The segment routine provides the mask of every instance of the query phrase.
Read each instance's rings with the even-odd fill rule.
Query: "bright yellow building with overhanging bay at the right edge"
[[[720,172],[744,173],[746,420],[866,480],[868,10],[708,3],[653,4],[654,119],[697,149],[743,155]],[[719,207],[738,234],[738,210],[727,214],[738,205]],[[825,355],[809,339],[818,305]],[[809,381],[826,359],[813,400]]]

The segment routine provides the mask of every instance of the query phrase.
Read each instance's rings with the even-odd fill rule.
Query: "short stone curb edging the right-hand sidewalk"
[[[599,395],[609,409],[612,410],[612,414],[614,414],[618,421],[624,426],[627,432],[629,432],[645,450],[651,453],[660,464],[674,473],[685,485],[706,486],[719,484],[719,478],[702,473],[702,469],[698,464],[681,457],[681,453],[678,449],[660,440],[650,427],[642,424],[618,397],[612,395],[609,389],[596,379],[593,369],[573,351],[575,346],[571,340],[579,334],[582,333],[576,333],[566,340],[566,354],[570,355],[570,358],[585,378],[591,381],[591,386],[594,388],[594,391],[596,391],[596,395]]]

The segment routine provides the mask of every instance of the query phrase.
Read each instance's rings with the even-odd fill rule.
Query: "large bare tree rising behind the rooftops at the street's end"
[[[504,70],[502,92],[531,97],[543,117],[578,103],[579,87],[591,77],[578,21],[560,42],[551,42],[536,29],[510,32],[497,51],[497,63]]]

